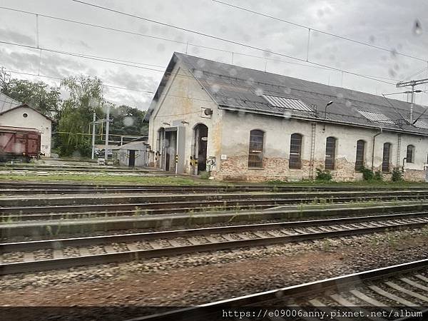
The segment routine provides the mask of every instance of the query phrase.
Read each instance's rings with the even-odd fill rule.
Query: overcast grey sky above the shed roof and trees
[[[85,1],[275,53],[303,60],[307,58],[307,29],[234,9],[211,0]],[[379,77],[388,83],[408,78],[417,71],[422,73],[414,78],[428,78],[428,71],[424,70],[428,66],[428,1],[222,1],[391,50],[391,52],[382,51],[312,31],[309,61],[353,73]],[[143,91],[156,91],[163,75],[162,71],[174,51],[187,51],[188,54],[202,58],[227,63],[233,61],[239,66],[260,70],[266,68],[272,73],[379,95],[402,91],[402,88],[395,88],[392,84],[372,81],[349,73],[342,75],[341,72],[326,68],[315,68],[310,63],[302,63],[284,56],[267,54],[263,51],[160,26],[153,22],[103,11],[71,0],[0,0],[0,6],[146,35],[123,34],[39,17],[41,48],[131,61],[123,63],[133,66],[54,54],[48,51],[42,51],[40,54],[38,49],[0,44],[0,66],[8,70],[58,78],[79,73],[98,76],[106,85],[128,88],[125,90],[105,87],[104,96],[108,100],[142,110],[148,108],[153,96],[152,93]],[[36,16],[0,9],[0,21],[0,41],[37,46]],[[422,29],[415,29],[415,21],[419,21]],[[156,39],[156,37],[168,40]],[[200,46],[213,49],[204,49]],[[235,54],[232,55],[230,52]],[[422,58],[425,61],[397,55],[397,52]],[[301,66],[302,64],[307,66]],[[51,86],[58,86],[59,83],[50,78],[24,76],[17,73],[13,76],[31,80],[40,79]],[[428,87],[423,85],[419,89],[427,90]],[[407,99],[404,94],[389,97]],[[427,93],[417,93],[416,102],[427,105]]]

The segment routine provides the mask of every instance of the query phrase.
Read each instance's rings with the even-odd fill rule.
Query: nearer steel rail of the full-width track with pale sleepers
[[[81,265],[121,263],[141,258],[156,258],[161,256],[180,255],[188,253],[198,253],[216,250],[230,250],[234,248],[254,247],[261,245],[272,245],[277,243],[301,242],[305,240],[318,240],[322,238],[336,238],[351,235],[362,235],[368,233],[378,233],[385,230],[397,230],[404,228],[420,228],[427,225],[427,221],[417,223],[390,223],[388,225],[352,229],[335,230],[330,232],[302,233],[298,235],[272,236],[267,238],[257,238],[250,240],[228,240],[217,243],[204,243],[198,245],[180,245],[168,248],[153,248],[151,250],[129,250],[117,253],[106,253],[97,255],[83,255],[71,258],[56,258],[49,260],[36,260],[19,263],[3,263],[0,265],[0,275],[15,273],[34,272],[43,270],[66,269]],[[166,234],[164,234],[166,235]],[[38,242],[38,241],[36,241]],[[42,241],[43,242],[43,241]]]

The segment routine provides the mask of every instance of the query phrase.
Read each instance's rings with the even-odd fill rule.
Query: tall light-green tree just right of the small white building
[[[58,122],[57,146],[61,156],[89,156],[92,115],[103,116],[103,83],[97,77],[70,76],[61,81],[70,97],[63,102]]]

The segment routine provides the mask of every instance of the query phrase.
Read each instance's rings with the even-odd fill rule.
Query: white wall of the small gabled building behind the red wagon
[[[24,118],[26,113],[28,117]],[[22,106],[0,115],[0,125],[22,128],[36,128],[41,133],[41,153],[51,157],[52,122],[31,108]]]

